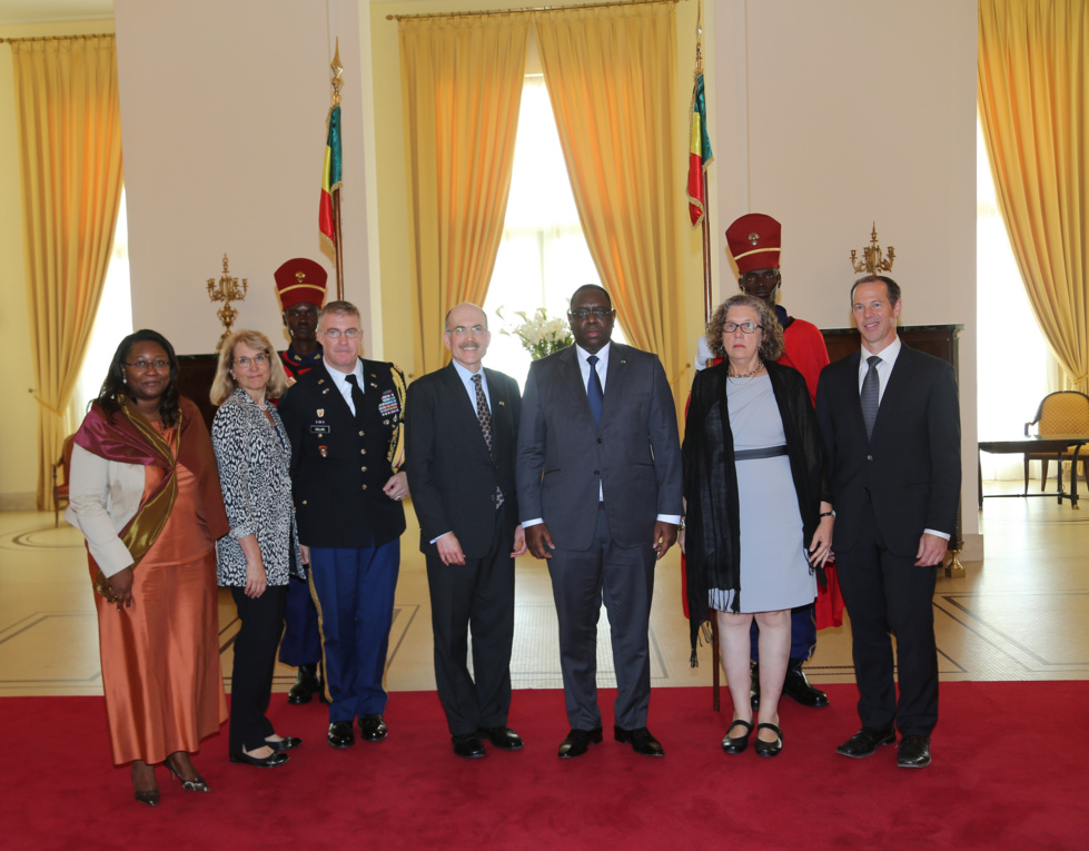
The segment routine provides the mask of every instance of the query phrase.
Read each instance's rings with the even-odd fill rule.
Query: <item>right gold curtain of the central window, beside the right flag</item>
[[[680,409],[687,387],[674,3],[538,12],[534,24],[591,255],[627,338],[661,357]]]

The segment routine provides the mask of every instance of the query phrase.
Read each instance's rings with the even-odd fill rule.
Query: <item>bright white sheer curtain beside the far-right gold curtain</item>
[[[1018,437],[1048,392],[1048,345],[1029,308],[994,198],[983,136],[976,122],[976,307],[979,334],[979,439]],[[1020,455],[980,458],[983,478],[1021,481]],[[1032,476],[1040,478],[1039,462]],[[1055,464],[1051,465],[1053,474]]]

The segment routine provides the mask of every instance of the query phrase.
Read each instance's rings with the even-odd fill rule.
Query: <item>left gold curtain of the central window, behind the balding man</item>
[[[399,22],[416,370],[443,366],[443,318],[483,305],[503,237],[527,14]]]

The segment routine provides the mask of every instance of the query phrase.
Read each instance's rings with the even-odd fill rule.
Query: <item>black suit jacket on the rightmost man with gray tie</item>
[[[867,439],[860,358],[861,352],[824,367],[816,392],[835,507],[832,545],[851,548],[869,499],[885,545],[897,555],[914,555],[923,530],[952,534],[957,527],[960,409],[953,368],[903,346]]]

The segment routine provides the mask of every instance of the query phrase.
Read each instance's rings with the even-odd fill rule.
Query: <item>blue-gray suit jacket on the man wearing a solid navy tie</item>
[[[650,546],[659,514],[680,515],[681,445],[656,355],[611,344],[601,426],[574,346],[529,367],[518,432],[521,518],[541,517],[556,546],[588,550],[598,485],[613,541]]]

